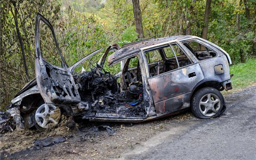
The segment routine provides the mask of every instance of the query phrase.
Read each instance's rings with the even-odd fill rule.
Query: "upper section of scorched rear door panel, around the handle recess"
[[[190,73],[195,76],[189,78]],[[148,79],[154,103],[191,92],[204,79],[199,64],[192,64]]]

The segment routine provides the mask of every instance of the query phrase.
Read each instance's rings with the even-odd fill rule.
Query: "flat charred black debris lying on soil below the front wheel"
[[[35,150],[38,150],[42,147],[51,146],[56,143],[62,143],[65,141],[66,141],[66,139],[64,137],[55,137],[55,138],[47,137],[42,140],[36,140],[33,147],[35,148]]]

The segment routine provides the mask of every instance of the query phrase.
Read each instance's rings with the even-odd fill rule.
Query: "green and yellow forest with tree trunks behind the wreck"
[[[195,35],[227,51],[242,73],[235,84],[247,85],[256,76],[255,12],[256,0],[0,0],[1,108],[35,78],[37,13],[52,23],[69,66],[113,43]]]

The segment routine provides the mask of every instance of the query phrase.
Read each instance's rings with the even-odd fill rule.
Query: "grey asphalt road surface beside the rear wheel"
[[[184,122],[125,151],[120,159],[256,160],[256,87],[225,100],[221,117]]]

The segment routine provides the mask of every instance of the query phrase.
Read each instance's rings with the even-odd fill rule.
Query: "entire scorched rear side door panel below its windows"
[[[199,64],[178,68],[148,79],[157,114],[189,107],[190,92],[203,79]]]

